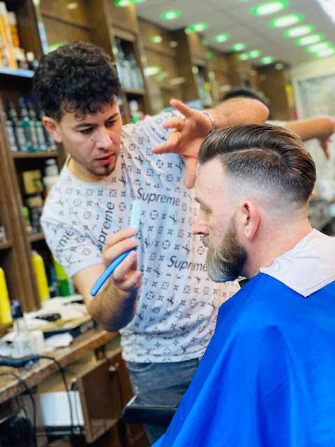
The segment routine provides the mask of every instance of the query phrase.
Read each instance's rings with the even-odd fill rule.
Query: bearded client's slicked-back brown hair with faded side
[[[301,139],[272,124],[240,124],[210,133],[200,164],[218,159],[228,177],[251,188],[306,203],[316,180],[315,164]]]

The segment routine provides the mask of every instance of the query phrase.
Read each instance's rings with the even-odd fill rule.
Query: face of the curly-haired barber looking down
[[[94,115],[77,117],[76,112],[66,112],[60,122],[54,121],[53,133],[50,133],[57,142],[63,142],[71,156],[68,168],[73,175],[82,181],[96,182],[115,168],[121,130],[121,115],[115,99],[113,105],[106,104],[102,112]]]

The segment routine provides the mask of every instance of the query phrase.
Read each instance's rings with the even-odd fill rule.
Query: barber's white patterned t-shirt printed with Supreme
[[[207,276],[206,250],[192,234],[198,212],[194,189],[184,186],[177,154],[154,155],[172,113],[124,126],[113,172],[84,183],[67,166],[50,191],[41,219],[47,244],[69,277],[102,262],[106,238],[131,223],[142,202],[137,256],[143,284],[133,320],[121,332],[125,360],[179,362],[200,358],[214,333],[218,307],[239,285]],[[66,163],[67,165],[67,163]]]

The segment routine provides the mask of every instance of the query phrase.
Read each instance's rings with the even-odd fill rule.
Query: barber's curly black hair
[[[75,42],[42,57],[33,89],[45,114],[60,121],[64,112],[86,115],[113,104],[121,84],[101,47]]]

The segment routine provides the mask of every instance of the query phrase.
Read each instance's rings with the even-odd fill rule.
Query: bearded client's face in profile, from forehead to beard
[[[231,281],[241,274],[246,250],[237,235],[234,205],[218,161],[200,167],[197,178],[197,198],[200,203],[193,233],[202,235],[207,247],[207,272],[215,282]]]

